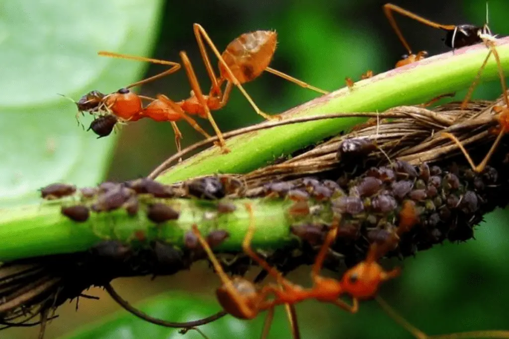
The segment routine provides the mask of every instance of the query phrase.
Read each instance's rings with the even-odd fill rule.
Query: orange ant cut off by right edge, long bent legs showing
[[[480,75],[482,74],[484,68],[486,67],[486,64],[488,63],[489,57],[491,56],[491,54],[493,54],[493,56],[495,58],[495,61],[497,63],[498,74],[499,74],[499,77],[500,77],[500,83],[502,85],[502,92],[503,92],[502,96],[503,96],[503,99],[504,99],[504,102],[505,102],[505,107],[504,106],[493,106],[493,111],[495,113],[497,113],[493,118],[499,124],[498,136],[495,139],[495,141],[493,142],[493,145],[491,146],[490,150],[486,154],[485,158],[480,162],[479,165],[475,165],[474,162],[472,161],[472,158],[470,158],[470,155],[468,154],[468,151],[465,149],[465,147],[462,145],[460,140],[458,140],[458,138],[455,135],[453,135],[451,133],[448,133],[448,132],[442,132],[441,133],[444,137],[453,140],[458,145],[458,147],[461,149],[461,151],[465,155],[465,158],[467,159],[467,161],[470,164],[470,166],[472,167],[472,169],[475,172],[477,172],[477,173],[480,173],[480,172],[484,171],[484,169],[486,168],[486,165],[488,164],[488,162],[490,161],[491,157],[493,156],[493,153],[495,152],[496,148],[498,147],[498,144],[500,143],[500,140],[502,140],[502,137],[504,136],[504,134],[509,131],[509,98],[507,97],[507,88],[506,88],[506,85],[505,85],[505,76],[504,76],[504,73],[503,73],[502,65],[500,63],[500,57],[499,57],[498,52],[497,52],[497,50],[495,48],[494,41],[492,41],[491,39],[487,38],[487,39],[485,39],[484,42],[490,48],[490,50],[489,50],[488,55],[486,56],[485,60],[483,61],[483,65],[481,65],[481,67],[479,68],[479,71],[477,72],[477,76],[476,76],[474,82],[472,83],[472,86],[470,86],[470,88],[468,90],[468,93],[467,93],[467,96],[465,97],[465,99],[463,100],[463,103],[461,104],[461,108],[463,109],[463,108],[466,107],[466,105],[467,105],[467,103],[470,100],[470,97],[472,95],[473,89],[477,85],[477,83],[478,83],[478,81],[480,79]]]

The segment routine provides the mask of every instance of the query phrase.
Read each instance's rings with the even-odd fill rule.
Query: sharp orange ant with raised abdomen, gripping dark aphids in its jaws
[[[195,23],[193,25],[193,29],[207,73],[212,81],[209,95],[203,94],[186,53],[180,52],[180,57],[192,88],[190,98],[174,102],[165,96],[159,95],[157,96],[157,100],[154,100],[145,109],[143,109],[140,98],[144,97],[137,96],[131,91],[122,89],[116,94],[107,96],[105,104],[108,109],[114,112],[114,114],[129,121],[136,121],[142,117],[150,117],[156,121],[170,121],[172,122],[177,140],[180,140],[182,134],[178,131],[175,121],[181,118],[185,118],[197,131],[205,135],[206,138],[210,137],[196,124],[193,119],[188,117],[186,113],[199,115],[203,118],[209,119],[219,138],[219,145],[223,152],[228,152],[228,148],[225,146],[221,131],[212,118],[210,111],[219,110],[226,105],[233,85],[236,85],[240,89],[254,110],[265,119],[281,117],[279,115],[271,116],[263,113],[242,87],[243,83],[254,80],[260,76],[263,71],[271,72],[302,87],[318,91],[321,94],[328,94],[327,91],[311,86],[285,73],[268,67],[275,52],[277,38],[276,33],[271,30],[258,30],[256,32],[242,34],[240,37],[228,44],[224,52],[220,54],[205,29],[200,24]],[[212,48],[212,51],[219,60],[219,77],[217,77],[214,73],[203,39]],[[171,69],[161,74],[138,81],[129,85],[127,88],[161,78],[176,72],[180,68],[179,64],[172,63],[171,61],[155,60],[105,51],[100,51],[98,54],[102,56],[149,61],[152,63],[172,66]],[[226,87],[223,92],[221,86],[224,82],[226,82]]]

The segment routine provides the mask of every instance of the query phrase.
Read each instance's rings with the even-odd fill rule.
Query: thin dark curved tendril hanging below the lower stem
[[[184,323],[179,323],[179,322],[173,322],[173,321],[166,321],[166,320],[162,320],[162,319],[158,319],[158,318],[153,318],[151,316],[149,316],[148,314],[136,309],[135,307],[131,306],[129,304],[129,302],[127,302],[127,300],[123,299],[118,293],[117,291],[115,291],[115,289],[113,288],[113,286],[111,286],[111,284],[106,284],[104,285],[104,289],[106,290],[106,292],[108,292],[108,294],[111,296],[111,298],[113,298],[113,300],[115,300],[119,305],[121,305],[123,307],[124,310],[126,310],[127,312],[135,315],[136,317],[140,318],[140,319],[143,319],[145,321],[148,321],[149,323],[152,323],[152,324],[155,324],[155,325],[159,325],[159,326],[164,326],[164,327],[173,327],[173,328],[190,328],[190,327],[196,327],[196,326],[201,326],[201,325],[205,325],[205,324],[208,324],[208,323],[211,323],[213,321],[216,321],[217,319],[219,318],[222,318],[224,317],[225,315],[227,315],[228,313],[225,312],[225,311],[220,311],[210,317],[207,317],[207,318],[203,318],[203,319],[200,319],[200,320],[193,320],[193,321],[189,321],[189,322],[184,322]]]

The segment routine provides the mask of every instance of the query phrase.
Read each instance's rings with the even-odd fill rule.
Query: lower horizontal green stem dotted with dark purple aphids
[[[156,225],[138,213],[131,218],[123,209],[109,213],[91,213],[85,223],[76,223],[60,213],[60,204],[43,203],[3,210],[0,216],[0,261],[43,255],[87,251],[102,240],[117,239],[136,242],[134,233],[142,231],[147,241],[162,240],[176,246],[184,245],[184,234],[196,223],[203,234],[214,229],[227,230],[229,238],[219,250],[240,251],[249,226],[244,203],[237,200],[237,210],[217,215],[215,203],[189,199],[169,202],[180,211],[176,221]],[[281,248],[291,242],[291,220],[287,215],[289,201],[250,199],[259,227],[253,244],[263,248]]]

